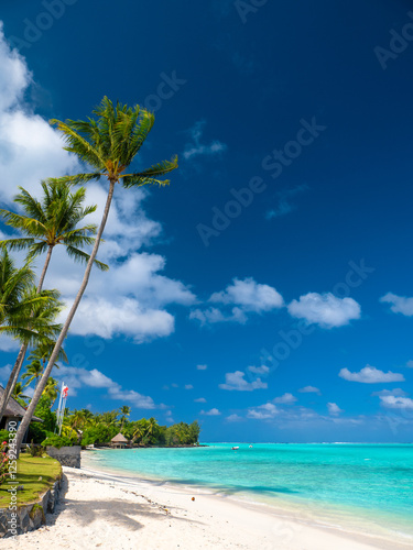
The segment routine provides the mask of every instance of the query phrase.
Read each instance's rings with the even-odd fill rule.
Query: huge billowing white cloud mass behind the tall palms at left
[[[59,133],[24,101],[32,75],[25,59],[11,52],[2,26],[0,70],[7,75],[0,81],[0,201],[9,206],[18,185],[39,196],[41,179],[75,173],[81,166],[63,150]],[[165,308],[172,304],[188,306],[195,301],[187,286],[161,273],[165,257],[139,253],[143,245],[153,244],[162,232],[161,224],[150,220],[142,208],[149,195],[145,188],[124,190],[117,187],[105,229],[105,242],[98,254],[99,260],[109,263],[110,271],[94,270],[87,294],[72,324],[72,334],[97,334],[108,339],[126,334],[138,343],[166,337],[174,331],[174,317]],[[100,223],[106,197],[104,185],[87,185],[86,204],[98,207],[88,217],[88,223]],[[59,249],[63,246],[57,246],[53,253],[46,285],[59,288],[64,300],[70,305],[84,266],[75,264]],[[37,261],[37,266],[41,265],[42,258]],[[0,339],[0,349],[11,350],[11,341]]]

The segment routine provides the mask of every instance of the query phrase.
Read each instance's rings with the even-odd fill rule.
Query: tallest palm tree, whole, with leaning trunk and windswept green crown
[[[86,290],[90,271],[99,250],[99,243],[108,219],[116,184],[121,184],[127,189],[130,187],[154,184],[164,186],[169,184],[169,180],[159,180],[156,178],[177,168],[177,157],[175,156],[170,162],[161,162],[142,172],[126,172],[139,153],[139,150],[153,127],[154,116],[146,109],[141,109],[139,106],[131,108],[122,106],[119,102],[113,106],[113,103],[105,97],[100,106],[95,109],[94,114],[96,119],[89,118],[87,121],[51,121],[51,123],[57,125],[57,129],[63,133],[67,143],[65,150],[77,155],[80,161],[85,162],[94,169],[91,173],[65,176],[59,178],[58,182],[81,184],[106,177],[109,182],[109,190],[100,227],[85,270],[80,288],[57,339],[48,365],[44,371],[26,414],[20,424],[15,441],[18,452],[25,430],[31,422],[34,409],[45,387],[47,377],[52,372],[53,364],[56,361],[58,350],[66,338],[72,320]]]

